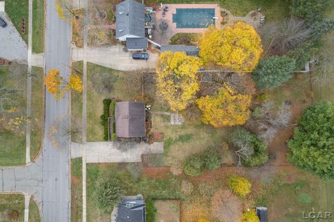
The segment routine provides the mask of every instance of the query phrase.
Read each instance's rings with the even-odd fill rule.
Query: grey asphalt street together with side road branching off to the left
[[[70,72],[71,26],[58,18],[54,3],[46,0],[45,72],[61,70],[65,79]],[[45,135],[42,154],[25,167],[0,169],[0,192],[32,195],[42,208],[42,221],[70,221],[70,141],[54,147],[47,137],[49,127],[60,116],[70,116],[68,95],[54,100],[45,93]]]

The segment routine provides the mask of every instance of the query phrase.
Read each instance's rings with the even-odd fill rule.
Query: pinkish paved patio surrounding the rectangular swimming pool
[[[165,11],[164,13],[163,8],[168,8],[168,11]],[[177,28],[177,23],[173,22],[173,16],[177,17],[180,14],[179,12],[177,13],[177,9],[196,9],[202,11],[205,11],[203,9],[214,9],[214,17],[218,17],[218,19],[215,19],[214,24],[217,29],[221,28],[221,8],[217,4],[164,4],[161,10],[158,8],[155,15],[156,30],[153,33],[154,42],[166,45],[169,43],[170,38],[176,33],[202,33],[207,29],[206,26],[209,26],[209,24],[200,24],[198,22],[187,24],[187,26],[201,26],[201,28],[183,28],[184,25],[181,25],[182,28]],[[189,13],[186,15],[187,17],[191,16]],[[202,12],[196,12],[196,15],[198,15],[200,19],[208,20],[207,15],[203,16],[202,14]]]

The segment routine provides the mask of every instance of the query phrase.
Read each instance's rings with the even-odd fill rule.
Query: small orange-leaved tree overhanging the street
[[[82,80],[77,74],[70,74],[70,80],[67,82],[61,77],[61,72],[56,69],[49,70],[49,73],[45,77],[45,86],[51,95],[54,95],[56,100],[63,97],[65,91],[74,90],[79,93],[82,92]]]

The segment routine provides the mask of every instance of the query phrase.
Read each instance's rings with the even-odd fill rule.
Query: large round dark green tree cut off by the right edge
[[[334,105],[322,102],[308,107],[298,124],[287,143],[289,161],[305,171],[333,179]]]

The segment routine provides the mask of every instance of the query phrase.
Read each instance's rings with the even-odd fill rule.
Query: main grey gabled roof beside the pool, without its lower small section
[[[125,0],[116,6],[116,38],[123,35],[145,37],[145,5]]]

